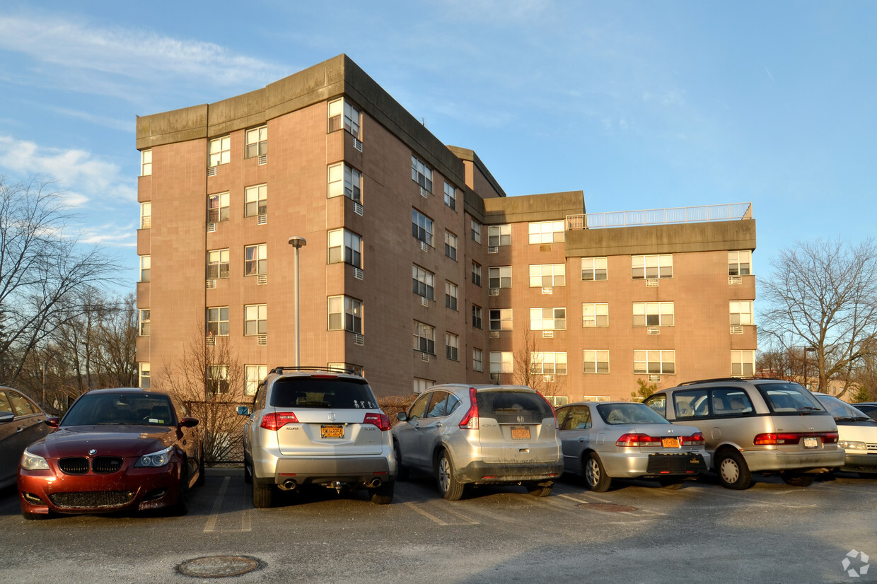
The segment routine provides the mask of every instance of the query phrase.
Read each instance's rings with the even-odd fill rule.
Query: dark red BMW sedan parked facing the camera
[[[77,399],[58,430],[25,449],[18,470],[21,514],[189,510],[203,482],[198,420],[179,417],[167,394],[97,389]]]

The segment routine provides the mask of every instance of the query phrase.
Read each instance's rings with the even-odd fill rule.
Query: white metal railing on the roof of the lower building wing
[[[567,230],[752,219],[752,203],[567,215]]]

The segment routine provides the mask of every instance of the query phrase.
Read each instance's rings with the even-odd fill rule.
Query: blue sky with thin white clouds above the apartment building
[[[347,53],[510,196],[752,202],[766,276],[798,240],[874,231],[875,26],[870,0],[6,0],[0,174],[52,177],[133,290],[135,117]]]

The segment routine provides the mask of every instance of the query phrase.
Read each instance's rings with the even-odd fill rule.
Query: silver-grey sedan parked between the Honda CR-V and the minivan
[[[570,403],[557,410],[557,423],[564,471],[584,477],[592,491],[602,493],[621,478],[680,488],[709,470],[701,431],[670,424],[643,403]]]

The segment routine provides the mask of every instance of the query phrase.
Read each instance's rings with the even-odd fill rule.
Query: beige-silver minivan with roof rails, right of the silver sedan
[[[816,474],[844,464],[834,418],[792,381],[690,381],[655,392],[645,404],[674,424],[700,428],[727,488],[748,488],[753,472],[807,487]]]

